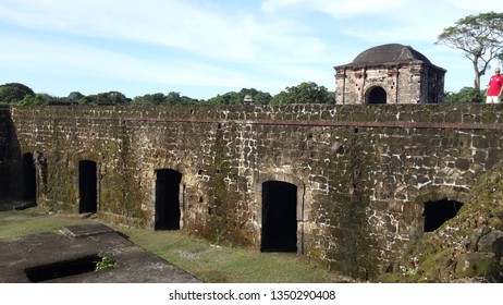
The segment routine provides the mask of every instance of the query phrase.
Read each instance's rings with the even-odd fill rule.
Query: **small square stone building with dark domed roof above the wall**
[[[443,101],[446,70],[408,46],[373,47],[334,69],[335,103]]]

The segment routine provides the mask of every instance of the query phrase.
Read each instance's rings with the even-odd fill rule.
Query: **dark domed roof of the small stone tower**
[[[431,65],[428,58],[412,47],[400,44],[389,44],[363,51],[353,60],[351,65],[406,63],[413,61],[421,61],[422,63]]]

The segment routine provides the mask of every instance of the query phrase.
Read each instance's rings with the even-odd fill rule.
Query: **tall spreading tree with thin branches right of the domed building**
[[[503,57],[503,13],[481,13],[458,20],[439,35],[442,42],[463,50],[475,71],[475,90],[480,90],[480,76],[486,74],[493,59]]]

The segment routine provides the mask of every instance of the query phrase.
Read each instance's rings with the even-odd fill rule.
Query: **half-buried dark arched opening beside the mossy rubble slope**
[[[425,232],[433,232],[439,229],[445,221],[455,217],[463,204],[455,200],[437,200],[425,204]]]

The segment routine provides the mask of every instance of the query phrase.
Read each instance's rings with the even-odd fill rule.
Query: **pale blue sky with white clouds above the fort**
[[[64,97],[177,91],[208,99],[242,88],[275,95],[384,44],[412,46],[447,70],[445,90],[473,86],[471,62],[435,45],[473,0],[2,0],[0,84]],[[493,62],[493,66],[498,63]],[[492,74],[492,69],[488,74]],[[481,80],[482,87],[488,75]]]

